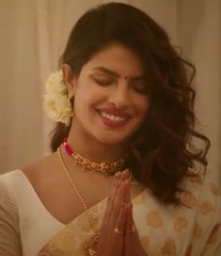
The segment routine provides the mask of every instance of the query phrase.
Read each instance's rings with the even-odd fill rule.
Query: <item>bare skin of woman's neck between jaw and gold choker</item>
[[[73,153],[80,154],[93,162],[117,161],[124,157],[127,148],[125,144],[103,144],[73,126],[68,137],[68,144],[71,145]]]

